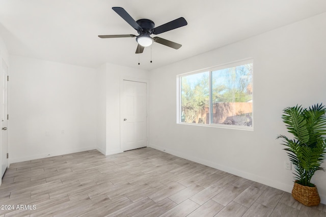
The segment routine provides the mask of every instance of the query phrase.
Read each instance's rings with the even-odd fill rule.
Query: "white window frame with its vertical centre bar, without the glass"
[[[204,127],[215,127],[215,128],[228,128],[228,129],[237,129],[237,130],[248,130],[248,131],[253,131],[254,130],[254,69],[253,69],[253,75],[252,75],[252,91],[253,91],[253,96],[252,96],[252,126],[237,126],[237,125],[223,125],[221,123],[212,123],[212,85],[211,85],[211,80],[212,80],[212,72],[213,71],[218,71],[222,69],[227,69],[231,67],[236,67],[236,66],[242,66],[246,64],[253,64],[254,68],[254,59],[253,58],[248,58],[248,59],[242,59],[238,61],[234,61],[232,63],[227,63],[219,66],[214,66],[214,67],[209,67],[206,69],[201,69],[193,72],[188,72],[188,73],[183,73],[177,75],[177,123],[180,125],[193,125],[193,126],[204,126]],[[187,122],[181,122],[181,80],[182,77],[188,76],[188,75],[194,75],[194,74],[199,74],[203,72],[209,72],[209,123],[187,123]]]

